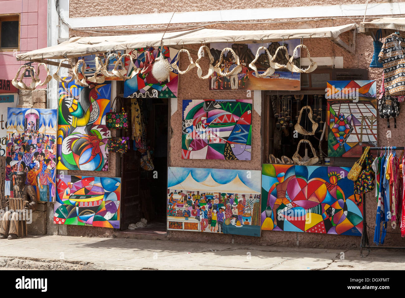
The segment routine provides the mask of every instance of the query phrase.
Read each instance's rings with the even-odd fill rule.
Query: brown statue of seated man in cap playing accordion
[[[36,210],[37,198],[34,187],[26,184],[26,173],[17,172],[13,187],[14,198],[6,201],[2,217],[0,239],[16,239],[27,236],[27,215]]]

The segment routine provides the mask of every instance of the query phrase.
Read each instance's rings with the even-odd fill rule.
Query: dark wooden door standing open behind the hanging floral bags
[[[128,112],[128,119],[131,119],[130,99],[123,99],[124,109]],[[131,127],[131,126],[130,126]],[[131,223],[141,220],[140,209],[140,182],[139,182],[139,155],[135,155],[132,146],[131,129],[128,132],[122,131],[124,137],[130,138],[130,149],[126,154],[121,154],[119,161],[121,168],[121,230],[128,229]]]

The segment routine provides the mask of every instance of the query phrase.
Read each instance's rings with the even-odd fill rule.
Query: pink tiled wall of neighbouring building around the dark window
[[[47,6],[47,0],[0,0],[0,16],[19,13],[21,22],[19,51],[0,52],[0,79],[13,79],[24,64],[15,59],[17,54],[47,47]],[[32,66],[36,69],[36,63],[32,63]],[[42,73],[40,78],[43,79],[45,72]]]

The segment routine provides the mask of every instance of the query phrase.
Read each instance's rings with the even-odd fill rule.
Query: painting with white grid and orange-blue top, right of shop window
[[[363,146],[377,146],[375,81],[327,85],[328,156],[360,157]]]

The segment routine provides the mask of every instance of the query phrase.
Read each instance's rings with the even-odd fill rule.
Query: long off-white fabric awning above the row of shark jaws
[[[335,27],[289,30],[218,30],[197,29],[164,34],[163,45],[190,45],[202,43],[252,43],[286,39],[328,38],[340,41],[339,34],[356,29],[356,24]],[[52,47],[36,49],[17,55],[17,60],[40,61],[43,59],[75,58],[86,54],[104,53],[111,50],[136,49],[159,46],[162,32],[132,35],[72,37]]]

